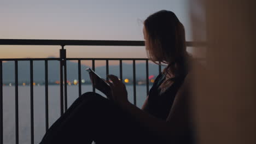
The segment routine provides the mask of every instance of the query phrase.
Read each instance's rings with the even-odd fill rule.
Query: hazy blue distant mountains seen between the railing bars
[[[82,79],[89,80],[88,72],[85,69],[87,65],[81,65]],[[164,67],[162,67],[164,68]],[[35,82],[44,82],[44,61],[33,61],[33,79]],[[106,66],[96,67],[95,71],[102,78],[106,78]],[[119,77],[119,65],[109,65],[109,74]],[[149,63],[149,75],[157,76],[159,74],[158,65]],[[30,81],[30,62],[18,62],[19,82]],[[123,63],[123,79],[132,79],[132,64]],[[78,79],[78,63],[67,61],[67,80],[73,81]],[[146,79],[146,64],[136,64],[136,80]],[[55,82],[60,80],[60,62],[48,61],[48,80]],[[15,81],[14,62],[3,63],[3,82],[9,83]]]

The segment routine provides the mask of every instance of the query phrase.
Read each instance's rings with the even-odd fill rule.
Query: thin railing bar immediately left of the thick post
[[[45,79],[45,131],[49,129],[49,108],[48,108],[48,61],[44,61],[44,79]]]

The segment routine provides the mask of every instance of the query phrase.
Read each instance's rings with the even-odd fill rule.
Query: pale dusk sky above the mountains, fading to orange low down
[[[188,0],[0,0],[0,39],[143,40],[143,20],[171,10],[191,40]],[[1,46],[0,58],[58,57],[60,46]],[[67,57],[146,58],[145,48],[66,46]]]

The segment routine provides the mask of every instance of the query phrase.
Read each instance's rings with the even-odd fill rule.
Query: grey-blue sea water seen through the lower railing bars
[[[152,85],[149,85],[149,88]],[[49,87],[49,127],[60,117],[60,86],[50,85]],[[128,99],[133,103],[133,86],[126,85]],[[31,107],[30,107],[30,86],[19,86],[19,143],[31,143]],[[91,92],[91,85],[82,85],[82,93]],[[100,91],[97,91],[104,96]],[[67,106],[69,107],[79,96],[78,86],[67,86]],[[136,86],[136,102],[139,108],[142,107],[147,97],[146,85]],[[34,143],[39,143],[45,134],[45,87],[33,87],[34,102]],[[15,143],[15,87],[3,87],[3,143]]]

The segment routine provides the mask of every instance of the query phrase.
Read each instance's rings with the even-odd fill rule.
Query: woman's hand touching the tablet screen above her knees
[[[127,91],[125,84],[121,82],[115,75],[108,75],[108,78],[112,81],[107,81],[111,88],[112,99],[119,105],[125,105],[129,103],[127,99]]]

